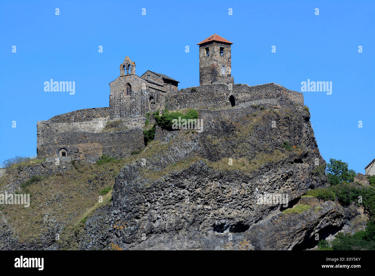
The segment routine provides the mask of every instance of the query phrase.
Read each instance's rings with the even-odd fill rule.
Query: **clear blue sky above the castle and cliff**
[[[217,33],[234,42],[235,83],[301,91],[308,79],[332,81],[332,95],[304,92],[320,152],[365,173],[375,158],[374,14],[371,1],[1,0],[0,162],[36,154],[37,121],[109,106],[108,83],[125,56],[138,75],[199,85],[196,43]],[[45,92],[51,78],[75,81],[75,94]]]

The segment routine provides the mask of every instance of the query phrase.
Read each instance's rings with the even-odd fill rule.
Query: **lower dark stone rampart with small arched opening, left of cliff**
[[[45,133],[44,141],[37,148],[38,158],[57,157],[60,149],[64,148],[72,160],[89,162],[96,161],[102,154],[126,158],[132,151],[144,147],[143,130],[137,127],[113,133],[50,131]]]

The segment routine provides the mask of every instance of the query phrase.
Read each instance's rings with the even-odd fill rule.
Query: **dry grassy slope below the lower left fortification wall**
[[[27,187],[30,207],[4,205],[2,213],[20,242],[33,241],[45,232],[51,224],[45,221],[47,218],[67,222],[72,225],[68,229],[74,229],[83,216],[109,202],[111,191],[103,196],[100,204],[99,195],[104,188],[114,185],[114,178],[123,165],[124,162],[92,164],[43,178]]]

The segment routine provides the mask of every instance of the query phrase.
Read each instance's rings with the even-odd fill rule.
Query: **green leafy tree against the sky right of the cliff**
[[[352,169],[348,170],[348,163],[340,160],[330,158],[330,164],[327,164],[327,178],[331,185],[340,184],[344,182],[353,182],[356,172]]]

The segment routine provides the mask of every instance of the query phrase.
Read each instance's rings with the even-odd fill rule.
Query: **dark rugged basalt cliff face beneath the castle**
[[[116,177],[112,206],[87,218],[80,249],[236,246],[228,239],[245,240],[241,246],[247,249],[291,249],[302,242],[310,231],[273,247],[256,234],[261,232],[257,223],[287,208],[279,202],[259,204],[259,195],[287,195],[290,207],[308,189],[326,185],[317,173],[325,162],[309,113],[302,106],[252,106],[243,116],[242,108],[232,110],[230,120],[205,121],[201,133],[168,133],[164,143],[139,153]],[[333,209],[332,203],[324,205],[326,220],[318,223],[321,218],[314,214],[311,221],[318,228],[341,225],[345,216]],[[295,223],[288,227],[297,237]]]

